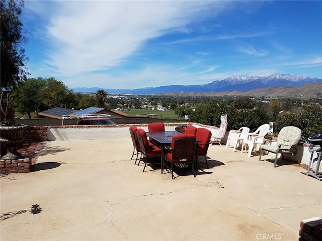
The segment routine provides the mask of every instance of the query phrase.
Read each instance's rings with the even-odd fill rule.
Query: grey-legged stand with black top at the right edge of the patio
[[[322,155],[322,134],[317,134],[307,139],[310,143],[308,151],[311,153],[311,158],[307,167],[307,172],[301,172],[308,176],[314,177],[322,181],[322,173],[320,172],[321,155]],[[316,152],[317,157],[313,159],[313,154]],[[312,166],[311,166],[312,165]],[[310,172],[312,168],[313,172]]]

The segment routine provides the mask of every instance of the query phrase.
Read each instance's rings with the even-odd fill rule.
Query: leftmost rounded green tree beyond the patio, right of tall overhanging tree
[[[31,112],[44,110],[44,104],[39,97],[39,91],[46,85],[46,80],[43,78],[28,78],[25,81],[20,82],[14,88],[14,102],[17,110],[22,113],[28,114],[31,118]]]

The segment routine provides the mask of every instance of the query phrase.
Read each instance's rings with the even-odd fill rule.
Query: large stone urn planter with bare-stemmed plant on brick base
[[[2,157],[4,160],[13,160],[23,158],[21,154],[17,152],[18,146],[23,142],[23,133],[26,128],[28,128],[25,124],[14,124],[8,119],[8,107],[13,98],[11,98],[6,103],[6,109],[3,107],[3,94],[1,92],[1,112],[4,114],[4,119],[0,125],[0,142],[1,144],[6,144],[7,154]],[[9,99],[9,94],[7,94],[7,100]]]

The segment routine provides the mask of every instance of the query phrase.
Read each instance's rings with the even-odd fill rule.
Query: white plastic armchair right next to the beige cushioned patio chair
[[[255,132],[246,134],[243,143],[241,144],[241,153],[243,153],[244,146],[246,150],[246,145],[248,145],[248,157],[251,157],[252,151],[257,146],[264,144],[264,137],[270,130],[269,124],[264,124],[260,126]]]

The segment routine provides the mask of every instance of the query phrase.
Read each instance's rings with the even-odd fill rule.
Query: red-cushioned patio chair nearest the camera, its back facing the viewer
[[[174,179],[174,165],[177,167],[192,167],[195,177],[194,164],[196,162],[196,136],[191,134],[177,135],[172,138],[172,143],[165,151],[165,162],[171,163],[171,175]],[[164,167],[162,167],[164,168]]]

